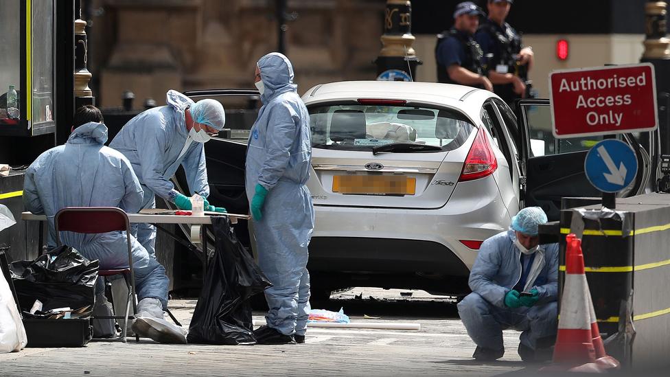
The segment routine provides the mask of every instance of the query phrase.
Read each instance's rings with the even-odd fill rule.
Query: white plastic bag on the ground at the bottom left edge
[[[14,295],[5,275],[0,272],[0,353],[19,352],[27,341]]]

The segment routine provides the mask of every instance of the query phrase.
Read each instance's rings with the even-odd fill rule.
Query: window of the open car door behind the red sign
[[[557,139],[551,131],[551,107],[540,104],[522,104],[522,116],[526,119],[530,141],[529,157],[560,155],[588,150],[602,136],[569,137]]]

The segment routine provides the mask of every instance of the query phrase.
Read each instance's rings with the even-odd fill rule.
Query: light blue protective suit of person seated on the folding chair
[[[107,127],[87,123],[78,127],[63,146],[41,154],[25,172],[23,205],[34,214],[48,219],[49,247],[56,247],[54,217],[65,207],[119,207],[135,213],[143,192],[130,162],[121,153],[103,146]],[[113,231],[82,234],[63,231],[63,244],[80,251],[91,260],[99,260],[101,269],[128,267],[126,233]],[[132,266],[139,299],[155,298],[167,306],[168,279],[165,269],[147,250],[130,237]]]

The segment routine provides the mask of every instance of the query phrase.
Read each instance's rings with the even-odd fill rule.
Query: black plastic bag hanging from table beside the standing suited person
[[[216,248],[193,312],[187,341],[224,345],[255,344],[250,297],[272,286],[242,247],[227,217],[213,217]]]

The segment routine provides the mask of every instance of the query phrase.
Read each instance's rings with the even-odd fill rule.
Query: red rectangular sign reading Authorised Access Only
[[[549,75],[555,137],[654,130],[654,66],[649,63],[553,71]]]

